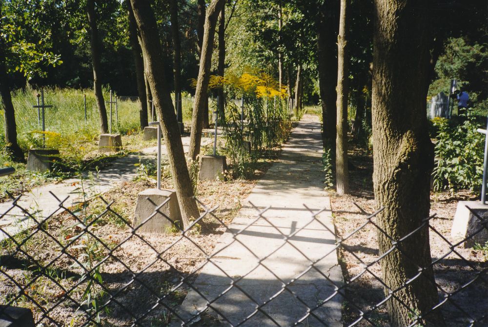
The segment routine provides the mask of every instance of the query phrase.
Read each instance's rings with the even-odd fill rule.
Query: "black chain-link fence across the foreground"
[[[201,217],[183,230],[166,215],[170,198],[152,203],[154,212],[136,225],[101,197],[53,198],[59,208],[49,215],[22,207],[21,197],[13,196],[0,213],[0,321],[18,321],[25,312],[15,307],[24,307],[34,322],[14,326],[390,326],[386,307],[396,301],[405,305],[409,326],[422,326],[431,312],[442,313],[446,326],[488,326],[487,249],[464,248],[488,230],[475,210],[478,227],[463,240],[453,244],[428,217],[380,254],[364,242],[367,231],[389,238],[378,223],[381,210],[365,213],[357,228],[339,237],[320,218],[325,209],[306,206],[308,220],[286,232],[266,218],[269,207],[251,204],[253,217],[228,225],[215,208],[201,204]],[[150,224],[162,225],[165,233],[147,232]],[[258,234],[257,225],[268,227],[259,236],[272,243],[245,241]],[[382,261],[405,255],[406,240],[426,228],[442,244],[434,251],[439,255],[430,266],[415,266],[418,274],[403,277],[401,287],[390,288]],[[318,229],[330,239],[304,236]],[[313,243],[323,251],[310,253]],[[300,260],[288,262],[286,253]],[[251,262],[241,260],[249,255]],[[429,267],[439,301],[422,316],[401,294]],[[377,300],[365,301],[374,299],[371,294]]]

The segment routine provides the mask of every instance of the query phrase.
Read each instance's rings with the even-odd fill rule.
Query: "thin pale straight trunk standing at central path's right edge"
[[[347,10],[349,0],[341,0],[339,35],[337,36],[337,137],[336,137],[336,189],[337,194],[349,192],[347,170],[347,99],[349,55],[347,53]]]

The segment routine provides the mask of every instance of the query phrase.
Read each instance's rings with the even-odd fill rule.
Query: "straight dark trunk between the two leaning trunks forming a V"
[[[180,43],[180,24],[178,23],[178,1],[171,0],[169,2],[171,10],[171,36],[173,38],[173,76],[175,84],[175,103],[177,120],[183,123],[182,113],[182,92],[180,84],[181,74],[181,43]]]

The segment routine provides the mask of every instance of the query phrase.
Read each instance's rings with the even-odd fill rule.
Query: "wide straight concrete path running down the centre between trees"
[[[203,267],[193,284],[208,301],[224,295],[211,304],[215,309],[212,310],[207,308],[207,300],[190,290],[178,309],[184,320],[206,309],[203,315],[207,318],[218,316],[219,311],[230,321],[218,319],[220,323],[212,326],[290,326],[306,315],[307,307],[323,304],[302,321],[303,326],[342,326],[342,298],[333,296],[332,282],[341,285],[343,277],[334,250],[335,237],[324,227],[334,230],[330,200],[324,191],[320,133],[317,117],[305,115],[285,144],[279,162],[273,164],[245,201],[261,209],[271,206],[263,214],[267,221],[260,218],[253,223],[256,210],[251,205],[244,206],[229,226],[231,232],[219,239],[215,253],[220,252]],[[312,215],[304,204],[314,212],[324,207],[326,210],[306,225]],[[242,229],[235,239],[245,246],[234,241],[234,234]],[[281,233],[290,235],[297,230],[300,231],[284,245]],[[259,259],[266,256],[260,265]],[[310,260],[318,262],[307,270]],[[296,281],[284,290],[278,278],[285,283]],[[242,291],[231,287],[234,283]],[[257,305],[261,310],[256,311]],[[181,325],[178,321],[171,326]]]

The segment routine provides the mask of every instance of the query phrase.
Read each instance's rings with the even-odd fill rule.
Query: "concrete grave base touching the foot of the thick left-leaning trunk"
[[[154,213],[156,208],[168,198],[169,201],[158,211],[165,214],[171,221],[158,212],[149,221],[144,223]],[[172,222],[182,222],[180,206],[178,205],[175,191],[148,188],[137,195],[136,213],[132,225],[134,228],[144,223],[138,231],[146,233],[169,233],[173,227]]]

